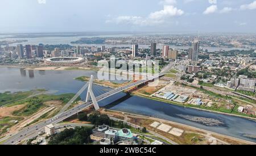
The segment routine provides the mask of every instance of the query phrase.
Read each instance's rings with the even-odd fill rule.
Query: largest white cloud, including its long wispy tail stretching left
[[[177,9],[171,5],[165,5],[163,10],[152,12],[146,18],[143,18],[142,16],[118,16],[117,18],[106,20],[106,23],[125,23],[139,26],[152,26],[167,22],[166,19],[173,16],[181,16],[183,14],[183,10]]]

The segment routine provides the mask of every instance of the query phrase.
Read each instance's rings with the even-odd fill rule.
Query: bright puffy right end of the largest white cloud
[[[183,14],[183,10],[177,9],[174,6],[164,6],[163,10],[152,12],[149,17],[151,19],[163,19],[170,16],[180,16]]]

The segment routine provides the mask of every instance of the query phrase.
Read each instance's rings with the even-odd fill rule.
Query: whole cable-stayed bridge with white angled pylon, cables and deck
[[[97,110],[99,108],[98,106],[98,102],[100,102],[101,100],[104,100],[106,98],[108,98],[109,96],[112,96],[114,94],[117,94],[118,92],[127,90],[131,87],[134,86],[138,86],[141,85],[143,83],[146,83],[148,81],[151,81],[153,79],[157,79],[159,77],[162,77],[164,74],[167,73],[167,71],[169,71],[172,66],[174,65],[174,63],[169,64],[168,66],[166,66],[165,68],[162,69],[162,71],[159,74],[155,74],[155,75],[151,75],[148,77],[145,77],[137,82],[134,83],[130,83],[129,85],[123,86],[123,87],[119,87],[119,88],[115,88],[115,89],[106,89],[105,91],[103,91],[100,86],[97,85],[93,85],[93,76],[90,79],[90,82],[86,83],[81,90],[79,90],[79,92],[77,92],[77,94],[63,107],[63,109],[61,109],[61,111],[52,119],[49,119],[47,121],[44,121],[42,123],[39,124],[35,124],[32,125],[30,127],[24,128],[22,130],[20,130],[18,133],[13,134],[12,136],[9,136],[9,138],[3,143],[5,145],[9,145],[9,144],[18,144],[20,141],[26,139],[26,138],[32,138],[38,135],[39,132],[44,131],[44,127],[46,127],[49,124],[56,124],[56,123],[60,123],[61,121],[67,119],[68,117],[71,117],[73,115],[75,115],[76,113],[81,112],[83,109],[86,109],[90,106],[94,106],[94,108]],[[71,104],[73,102],[75,102],[75,100],[82,94],[82,92],[84,92],[84,90],[88,88],[88,92],[86,94],[86,102],[80,104],[79,106],[75,106],[71,109],[69,109],[68,111],[67,108],[69,106],[71,106]],[[95,96],[95,92],[96,92],[96,96]],[[92,99],[92,101],[89,100]]]

